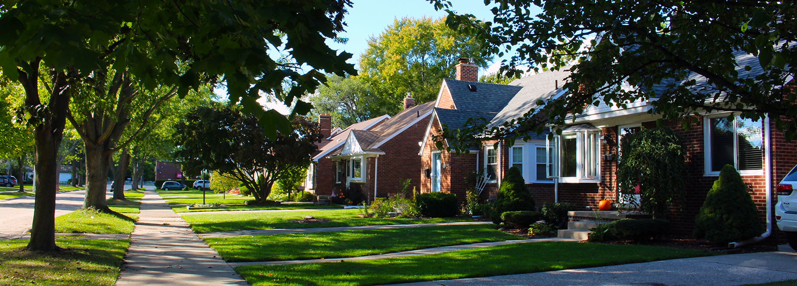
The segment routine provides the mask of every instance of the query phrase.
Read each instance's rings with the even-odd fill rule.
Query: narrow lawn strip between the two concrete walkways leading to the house
[[[523,239],[496,228],[494,225],[446,225],[206,238],[205,241],[226,261],[292,261],[363,257],[446,245]]]

